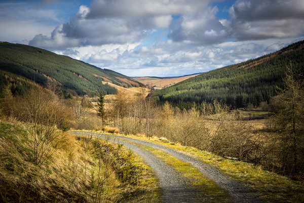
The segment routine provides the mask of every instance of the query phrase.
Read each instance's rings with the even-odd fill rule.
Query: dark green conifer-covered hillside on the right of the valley
[[[276,95],[289,63],[304,71],[304,41],[291,44],[275,53],[203,73],[173,86],[156,90],[160,103],[189,109],[193,103],[223,100],[232,107],[258,106]]]

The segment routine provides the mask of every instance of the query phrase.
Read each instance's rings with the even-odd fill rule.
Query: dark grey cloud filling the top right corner
[[[304,32],[303,0],[238,0],[229,14],[238,40],[298,37]]]

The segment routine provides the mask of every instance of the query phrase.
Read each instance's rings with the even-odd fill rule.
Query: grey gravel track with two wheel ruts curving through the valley
[[[205,198],[206,195],[203,194],[202,191],[198,191],[193,188],[186,178],[179,172],[150,152],[132,144],[132,142],[162,150],[183,162],[192,164],[192,166],[198,168],[205,177],[214,181],[220,188],[229,193],[229,202],[263,202],[254,190],[249,189],[244,184],[229,178],[209,164],[163,145],[109,134],[79,131],[70,131],[70,133],[86,136],[92,135],[102,139],[108,139],[111,142],[123,144],[125,147],[141,156],[159,179],[163,194],[163,202],[208,202],[209,200]]]

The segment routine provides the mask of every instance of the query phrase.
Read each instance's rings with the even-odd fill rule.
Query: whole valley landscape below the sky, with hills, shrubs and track
[[[303,201],[303,43],[140,81],[2,43],[1,200]]]

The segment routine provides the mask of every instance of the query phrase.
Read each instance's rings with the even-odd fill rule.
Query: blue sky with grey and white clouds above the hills
[[[304,40],[304,0],[2,0],[0,27],[126,76],[183,76]]]

